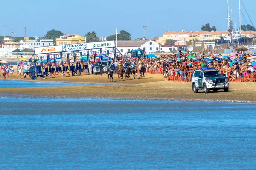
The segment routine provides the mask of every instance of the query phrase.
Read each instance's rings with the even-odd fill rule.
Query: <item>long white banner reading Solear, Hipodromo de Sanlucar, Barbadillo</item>
[[[90,43],[57,45],[57,46],[47,46],[47,47],[35,47],[34,51],[35,51],[35,54],[47,54],[47,53],[80,51],[80,50],[90,50],[90,49],[97,49],[97,48],[111,48],[111,47],[115,47],[115,41],[90,42]]]

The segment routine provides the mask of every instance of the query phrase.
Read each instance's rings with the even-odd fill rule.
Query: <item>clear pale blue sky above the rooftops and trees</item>
[[[229,0],[233,20],[239,27],[239,0]],[[255,0],[243,0],[252,22]],[[241,5],[247,23],[247,14]],[[81,34],[95,31],[97,36],[109,36],[124,29],[132,39],[161,36],[167,31],[200,31],[210,23],[217,30],[227,30],[227,0],[3,0],[1,1],[0,35],[6,23],[6,35],[44,36],[51,29],[64,34]],[[241,15],[241,24],[246,24]]]

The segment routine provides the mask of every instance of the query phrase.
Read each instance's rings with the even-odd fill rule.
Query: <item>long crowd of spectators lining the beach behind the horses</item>
[[[236,82],[253,82],[255,81],[254,74],[256,74],[255,59],[247,59],[248,55],[253,55],[251,51],[247,54],[242,54],[240,51],[230,54],[228,57],[222,57],[221,54],[216,52],[208,51],[206,54],[198,53],[192,56],[188,53],[181,53],[179,51],[177,54],[160,55],[160,57],[154,58],[129,58],[121,56],[116,61],[111,60],[111,64],[108,65],[108,69],[113,69],[114,74],[116,74],[121,67],[126,71],[127,68],[135,68],[137,72],[141,71],[141,68],[145,68],[146,73],[150,74],[162,74],[164,79],[168,81],[191,81],[192,74],[195,70],[201,69],[203,67],[213,67],[221,72],[222,75],[228,77],[230,81]],[[256,58],[256,57],[255,57]],[[49,62],[48,63],[37,63],[39,65],[37,69],[42,72],[43,79],[49,76],[55,77],[56,75],[62,76],[80,76],[81,74],[93,74],[93,68],[95,67],[95,62],[87,60],[79,62],[67,61],[61,63]],[[100,65],[101,71],[105,65]],[[19,79],[21,75],[26,78],[26,73],[28,72],[27,67],[29,65],[24,65],[23,62],[17,66],[17,75]],[[254,68],[253,68],[254,67]],[[42,70],[41,70],[42,69]],[[14,68],[10,65],[1,66],[1,71],[3,73],[3,78],[12,77]],[[1,77],[0,71],[0,77]],[[38,71],[38,70],[37,70]],[[102,72],[100,73],[102,75]]]

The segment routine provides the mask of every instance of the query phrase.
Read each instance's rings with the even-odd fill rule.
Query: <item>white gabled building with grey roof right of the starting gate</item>
[[[123,55],[136,49],[144,49],[147,54],[154,54],[155,52],[159,52],[160,48],[161,45],[151,40],[117,41],[117,49]]]

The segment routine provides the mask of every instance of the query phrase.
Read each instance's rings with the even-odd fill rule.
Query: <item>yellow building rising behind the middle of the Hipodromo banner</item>
[[[69,45],[85,43],[85,38],[79,34],[63,35],[60,38],[56,38],[56,45]]]

